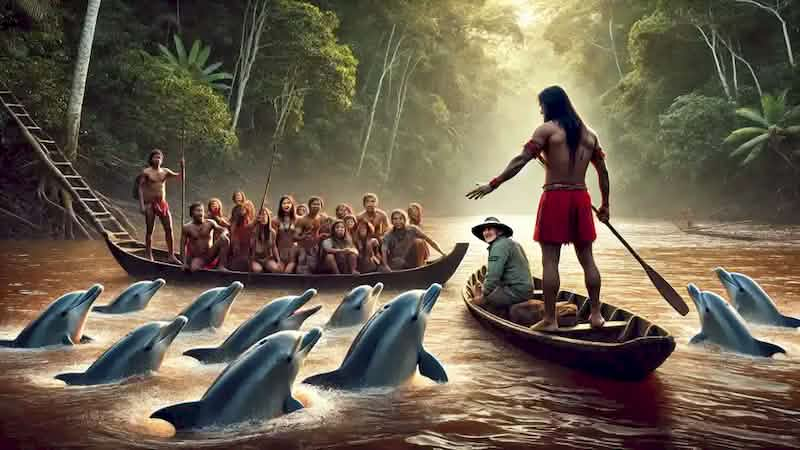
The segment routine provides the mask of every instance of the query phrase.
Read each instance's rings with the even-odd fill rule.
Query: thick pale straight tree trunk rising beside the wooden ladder
[[[89,58],[92,55],[94,29],[97,25],[97,14],[99,12],[100,0],[89,0],[89,5],[86,8],[86,18],[83,20],[81,40],[78,45],[75,73],[72,76],[69,106],[67,106],[67,123],[65,127],[67,130],[67,145],[64,147],[64,151],[66,156],[73,161],[78,156],[78,133],[81,126],[83,93],[86,88],[86,76],[89,73]]]

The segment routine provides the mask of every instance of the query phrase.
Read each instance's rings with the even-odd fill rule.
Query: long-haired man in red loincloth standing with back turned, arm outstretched
[[[561,246],[572,243],[583,267],[586,290],[589,291],[592,327],[604,324],[600,314],[600,272],[592,255],[592,243],[597,237],[592,214],[592,199],[586,190],[586,171],[589,164],[597,170],[602,204],[597,218],[609,220],[609,181],[605,153],[597,135],[587,127],[572,107],[567,93],[551,86],[539,94],[539,106],[544,123],[515,156],[506,169],[488,184],[478,186],[467,197],[478,199],[510,180],[525,165],[541,159],[545,165],[544,192],[539,200],[536,231],[533,239],[542,247],[542,279],[545,301],[544,318],[534,324],[534,330],[555,330],[556,296],[560,288],[558,262]]]

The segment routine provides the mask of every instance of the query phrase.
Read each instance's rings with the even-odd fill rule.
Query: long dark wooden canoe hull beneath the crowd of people
[[[144,258],[144,244],[135,241],[113,241],[104,235],[111,255],[129,275],[135,278],[164,278],[169,281],[187,283],[228,284],[240,281],[245,286],[275,288],[342,288],[349,289],[360,284],[382,282],[387,289],[424,289],[432,283],[444,285],[453,276],[469,244],[459,242],[450,253],[416,269],[398,270],[389,273],[367,273],[361,275],[298,275],[249,272],[220,272],[199,270],[191,273],[181,266],[166,262],[165,250],[153,249],[154,261]]]

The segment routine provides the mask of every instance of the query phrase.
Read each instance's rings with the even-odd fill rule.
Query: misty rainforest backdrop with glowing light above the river
[[[59,138],[86,3],[0,0],[0,79]],[[175,168],[183,146],[200,197],[256,195],[276,151],[275,189],[458,214],[563,80],[609,154],[613,213],[791,221],[797,46],[788,0],[103,0],[72,156],[127,198],[152,148]]]

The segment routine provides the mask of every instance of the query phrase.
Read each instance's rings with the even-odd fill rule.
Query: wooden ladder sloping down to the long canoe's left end
[[[113,241],[133,241],[133,236],[128,233],[121,223],[97,198],[94,191],[72,163],[64,156],[56,142],[42,128],[36,124],[25,106],[16,96],[0,83],[0,103],[8,114],[17,122],[22,134],[33,147],[34,151],[45,158],[45,162],[52,165],[55,175],[61,184],[72,194],[77,201],[78,212],[89,220],[95,230],[101,235],[108,233]]]

